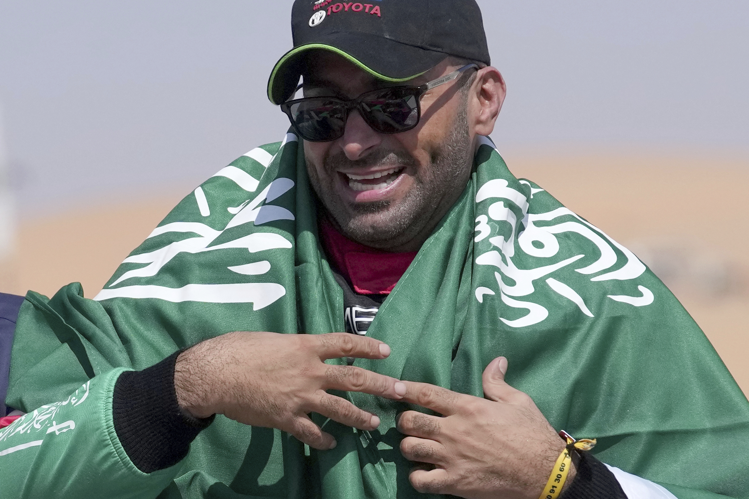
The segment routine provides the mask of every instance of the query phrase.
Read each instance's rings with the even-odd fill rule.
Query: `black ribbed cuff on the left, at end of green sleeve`
[[[213,417],[196,419],[181,410],[175,393],[175,352],[142,371],[126,371],[115,382],[112,419],[130,461],[143,473],[176,465]]]

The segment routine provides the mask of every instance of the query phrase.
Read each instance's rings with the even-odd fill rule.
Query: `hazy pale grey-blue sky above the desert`
[[[479,0],[500,150],[749,157],[749,2]],[[4,1],[21,214],[187,189],[288,122],[265,98],[291,1]],[[512,166],[512,165],[511,165]]]

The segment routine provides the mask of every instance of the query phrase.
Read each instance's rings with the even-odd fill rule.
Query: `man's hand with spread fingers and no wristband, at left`
[[[224,414],[240,423],[282,429],[315,449],[332,449],[335,439],[312,422],[310,412],[366,430],[376,429],[380,418],[326,390],[401,399],[405,387],[397,379],[360,367],[330,366],[324,359],[388,355],[385,343],[356,334],[229,333],[179,355],[175,391],[181,408],[195,417]]]

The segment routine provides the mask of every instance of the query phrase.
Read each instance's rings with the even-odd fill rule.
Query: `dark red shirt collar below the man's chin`
[[[330,265],[360,295],[388,295],[416,257],[416,251],[388,253],[352,241],[339,233],[324,217],[320,234]]]

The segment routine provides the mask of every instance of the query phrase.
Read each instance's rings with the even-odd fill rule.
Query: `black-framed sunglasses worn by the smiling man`
[[[476,64],[467,64],[441,78],[418,87],[380,88],[361,94],[356,99],[336,97],[305,97],[288,100],[281,105],[291,121],[291,127],[304,140],[327,142],[341,138],[346,129],[348,114],[356,109],[376,132],[400,133],[413,129],[421,119],[419,101],[426,91],[460,77]],[[303,85],[297,87],[297,91]],[[296,91],[295,91],[296,92]]]

